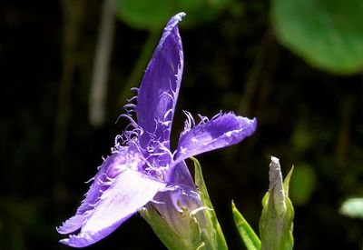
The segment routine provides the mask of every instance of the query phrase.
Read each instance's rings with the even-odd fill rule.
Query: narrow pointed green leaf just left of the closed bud
[[[259,236],[256,235],[252,227],[250,227],[249,223],[237,210],[233,201],[232,201],[232,214],[233,214],[234,223],[236,224],[237,229],[240,233],[240,237],[242,238],[244,245],[247,247],[247,249],[248,250],[260,249],[261,243]]]

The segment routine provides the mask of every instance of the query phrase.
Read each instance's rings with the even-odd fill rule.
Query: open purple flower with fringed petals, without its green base
[[[184,131],[174,151],[170,147],[172,118],[182,80],[183,53],[174,15],[163,30],[152,55],[137,105],[125,105],[130,125],[117,135],[112,154],[99,167],[93,184],[76,214],[57,228],[72,234],[65,245],[83,247],[111,234],[125,220],[153,205],[169,224],[183,207],[201,205],[197,189],[184,160],[203,152],[239,143],[256,130],[256,119],[233,113],[208,119],[200,115],[195,124],[188,112]],[[137,122],[132,118],[136,114]]]

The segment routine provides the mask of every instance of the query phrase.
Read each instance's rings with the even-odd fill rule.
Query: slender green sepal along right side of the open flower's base
[[[228,249],[226,240],[221,231],[221,225],[218,222],[217,215],[211,205],[210,195],[208,195],[207,187],[201,174],[201,165],[198,160],[191,157],[194,162],[195,185],[198,186],[198,192],[201,196],[201,202],[206,207],[205,214],[207,216],[207,232],[206,236],[211,240],[211,249]]]

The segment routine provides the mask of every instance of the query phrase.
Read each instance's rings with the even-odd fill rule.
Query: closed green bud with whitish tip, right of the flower
[[[270,188],[262,199],[260,217],[261,249],[292,249],[294,208],[289,200],[289,175],[282,183],[279,159],[271,157]]]

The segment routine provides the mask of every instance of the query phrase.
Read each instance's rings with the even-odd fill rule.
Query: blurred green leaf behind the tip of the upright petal
[[[128,25],[140,29],[161,29],[172,15],[185,12],[184,26],[198,25],[211,20],[229,0],[118,0],[117,15]]]

